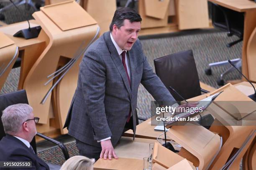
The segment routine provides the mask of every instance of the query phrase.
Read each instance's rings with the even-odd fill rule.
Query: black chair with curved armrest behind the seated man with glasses
[[[16,92],[10,92],[7,94],[3,94],[0,95],[0,117],[2,117],[2,111],[8,107],[9,105],[14,105],[14,104],[18,104],[18,103],[26,103],[28,104],[28,98],[27,98],[27,94],[26,94],[26,90],[19,90]],[[54,140],[52,138],[49,138],[41,133],[37,133],[36,135],[40,136],[41,138],[44,138],[45,140],[49,140],[52,143],[55,143],[56,145],[58,145],[62,152],[63,155],[65,157],[65,160],[69,159],[69,153],[67,151],[66,146],[63,143],[60,143],[57,140]],[[5,131],[3,128],[3,122],[0,118],[0,140],[5,136]],[[33,138],[33,140],[31,141],[31,146],[33,147],[35,153],[36,152],[36,140],[35,137]]]

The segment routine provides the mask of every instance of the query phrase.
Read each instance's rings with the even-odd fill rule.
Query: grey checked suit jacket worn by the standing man
[[[67,120],[69,135],[89,145],[100,147],[97,140],[111,136],[114,145],[120,139],[130,112],[136,132],[135,110],[140,83],[156,101],[175,100],[153,72],[137,40],[127,52],[131,87],[110,32],[105,32],[85,52]]]

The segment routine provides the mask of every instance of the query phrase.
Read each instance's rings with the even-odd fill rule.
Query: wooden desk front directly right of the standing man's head
[[[138,0],[138,12],[142,18],[140,35],[212,27],[206,0]]]

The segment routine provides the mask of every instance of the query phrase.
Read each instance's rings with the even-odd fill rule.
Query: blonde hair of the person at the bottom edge
[[[85,156],[73,156],[69,158],[60,170],[93,170],[94,159]]]

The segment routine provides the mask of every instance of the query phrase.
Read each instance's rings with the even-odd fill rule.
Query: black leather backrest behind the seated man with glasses
[[[26,94],[26,90],[19,90],[15,92],[6,93],[0,95],[0,117],[2,117],[3,110],[10,105],[15,105],[18,103],[26,103],[28,104],[28,98]],[[2,119],[0,119],[0,140],[5,136],[5,131],[3,128]],[[35,137],[31,141],[31,146],[33,147],[36,153],[36,140]]]

